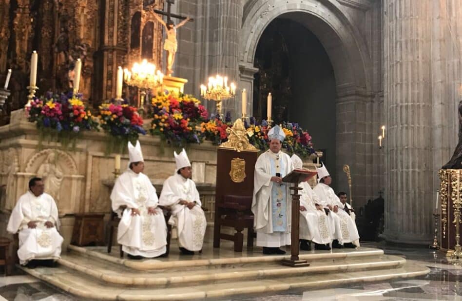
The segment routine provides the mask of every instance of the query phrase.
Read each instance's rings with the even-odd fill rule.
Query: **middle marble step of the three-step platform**
[[[352,257],[332,261],[319,259],[310,262],[310,266],[292,268],[279,262],[228,265],[216,268],[208,266],[202,269],[171,267],[151,272],[136,271],[120,264],[97,259],[89,259],[75,254],[63,255],[59,263],[69,270],[75,270],[86,276],[109,283],[139,286],[173,286],[185,283],[219,283],[230,280],[266,279],[272,277],[307,276],[313,274],[343,273],[371,269],[396,268],[403,266],[404,258],[381,255],[380,257]]]

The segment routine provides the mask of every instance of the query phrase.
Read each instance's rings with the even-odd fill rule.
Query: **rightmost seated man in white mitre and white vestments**
[[[329,216],[331,217],[331,234],[333,239],[336,240],[332,243],[333,247],[355,248],[359,247],[359,234],[355,222],[351,217],[342,209],[343,204],[340,199],[335,195],[335,192],[330,188],[332,179],[327,171],[326,166],[323,164],[321,168],[317,169],[319,182],[314,187],[313,191],[324,202],[324,205],[330,209]],[[339,209],[340,208],[340,209]]]

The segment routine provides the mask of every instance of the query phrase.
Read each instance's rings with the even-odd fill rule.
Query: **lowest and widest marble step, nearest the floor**
[[[296,270],[294,268],[293,270]],[[409,278],[425,275],[427,267],[415,262],[406,262],[394,269],[373,269],[366,271],[327,273],[312,277],[289,276],[260,281],[227,281],[218,284],[195,284],[167,288],[139,288],[110,284],[96,280],[93,277],[76,273],[64,267],[36,268],[24,271],[42,281],[46,281],[66,292],[92,300],[131,300],[131,301],[166,301],[166,300],[196,300],[217,299],[236,295],[268,294],[289,289],[320,289],[346,283],[369,281],[385,281],[395,278]]]

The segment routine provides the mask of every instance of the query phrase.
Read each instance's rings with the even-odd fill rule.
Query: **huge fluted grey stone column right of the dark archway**
[[[431,2],[383,2],[387,241],[431,238]]]

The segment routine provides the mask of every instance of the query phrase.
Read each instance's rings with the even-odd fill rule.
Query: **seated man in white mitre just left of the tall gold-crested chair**
[[[176,170],[173,176],[164,181],[159,204],[172,209],[169,224],[178,231],[180,251],[193,255],[200,251],[204,242],[207,221],[201,208],[199,192],[192,177],[192,167],[186,151],[178,155],[173,152]]]

